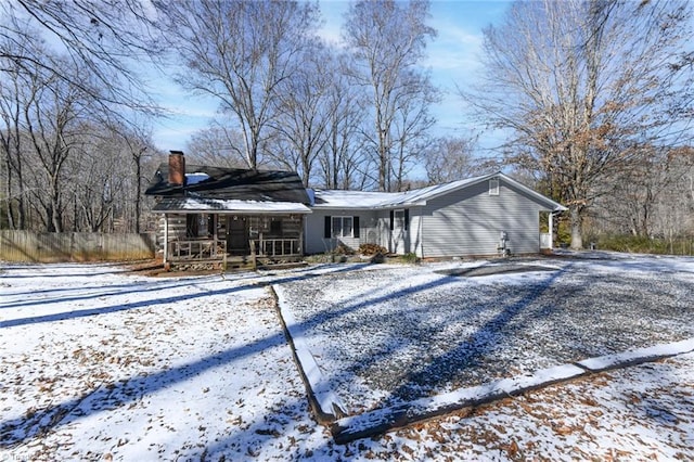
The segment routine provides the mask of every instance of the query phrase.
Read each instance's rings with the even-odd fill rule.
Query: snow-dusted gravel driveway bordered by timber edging
[[[281,290],[350,412],[694,337],[692,259],[355,266]]]

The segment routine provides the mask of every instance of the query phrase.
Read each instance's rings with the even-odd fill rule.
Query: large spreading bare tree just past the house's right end
[[[676,142],[692,114],[685,1],[516,2],[485,29],[486,78],[464,92],[513,131],[507,161],[541,171],[569,207],[571,246],[640,146]]]

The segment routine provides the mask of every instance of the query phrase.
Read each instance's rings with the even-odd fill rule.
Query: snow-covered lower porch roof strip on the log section
[[[237,214],[286,215],[310,214],[311,209],[296,202],[243,201],[211,197],[163,197],[152,211],[166,214]]]

